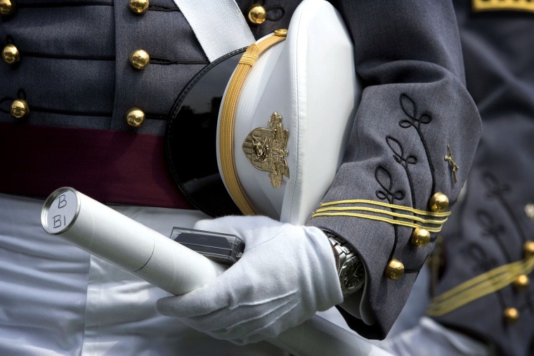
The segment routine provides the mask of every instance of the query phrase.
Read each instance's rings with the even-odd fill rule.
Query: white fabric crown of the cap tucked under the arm
[[[354,47],[341,16],[327,1],[302,1],[287,39],[259,55],[237,101],[235,173],[256,214],[294,224],[310,218],[341,164],[359,96]],[[250,137],[243,150],[256,128],[272,130],[268,121],[273,113],[282,117],[282,130],[289,131],[284,157],[289,172],[280,187],[273,187],[269,172],[247,158]],[[219,133],[217,139],[222,172]]]

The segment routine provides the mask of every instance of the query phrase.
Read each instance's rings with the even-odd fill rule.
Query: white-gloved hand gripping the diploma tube
[[[245,344],[278,336],[343,301],[332,247],[318,228],[264,216],[201,220],[194,228],[236,235],[245,241],[245,252],[212,282],[159,299],[162,315]]]

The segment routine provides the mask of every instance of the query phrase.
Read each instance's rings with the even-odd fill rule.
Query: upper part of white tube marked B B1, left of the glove
[[[176,296],[225,268],[70,187],[44,202],[41,224],[80,248]]]

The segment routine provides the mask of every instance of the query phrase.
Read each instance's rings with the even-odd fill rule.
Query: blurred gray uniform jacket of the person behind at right
[[[467,88],[480,110],[483,136],[467,195],[443,230],[445,274],[429,314],[494,345],[497,355],[532,355],[534,6],[455,2]],[[494,273],[503,268],[509,276],[493,290],[500,282]],[[468,298],[443,298],[445,292],[484,273],[490,284],[466,289],[478,298],[443,308],[446,301]]]

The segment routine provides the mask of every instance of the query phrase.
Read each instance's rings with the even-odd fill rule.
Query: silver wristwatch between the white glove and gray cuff
[[[363,262],[351,246],[332,232],[323,230],[332,244],[336,258],[337,274],[343,298],[358,291],[365,284],[365,268]]]

